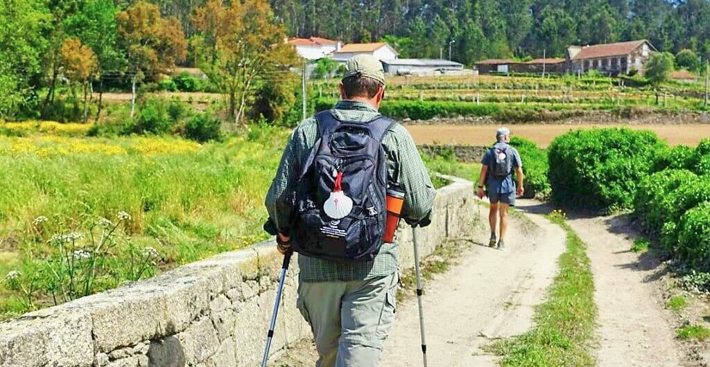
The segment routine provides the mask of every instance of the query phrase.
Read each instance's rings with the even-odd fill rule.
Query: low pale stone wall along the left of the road
[[[420,252],[465,235],[475,218],[473,184],[439,189]],[[400,266],[413,266],[411,230],[400,231]],[[258,366],[283,256],[273,242],[219,254],[148,281],[0,323],[0,367]],[[272,353],[311,337],[295,307],[294,258]]]

